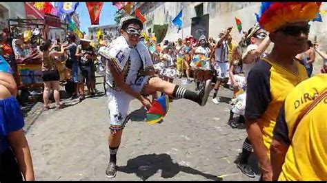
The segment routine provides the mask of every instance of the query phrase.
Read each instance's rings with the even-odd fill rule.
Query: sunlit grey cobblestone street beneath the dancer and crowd
[[[97,88],[103,92],[102,85]],[[123,131],[117,177],[112,180],[257,180],[236,167],[246,131],[227,125],[231,92],[221,89],[219,96],[220,105],[212,104],[210,96],[205,107],[174,100],[164,122],[157,125],[143,121],[145,111],[133,100],[134,115]],[[39,118],[32,124],[34,118],[27,117],[36,180],[108,180],[106,97],[102,93],[81,103],[62,103],[66,108],[60,111],[34,111]]]

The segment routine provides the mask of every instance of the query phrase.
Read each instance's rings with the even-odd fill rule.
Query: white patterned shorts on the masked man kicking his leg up
[[[137,82],[130,87],[135,91],[143,94],[144,89],[148,85],[150,76],[140,76]],[[125,127],[129,120],[128,108],[130,101],[135,99],[134,97],[126,94],[126,92],[117,91],[108,87],[106,89],[108,96],[108,109],[110,116],[110,129],[121,130]]]

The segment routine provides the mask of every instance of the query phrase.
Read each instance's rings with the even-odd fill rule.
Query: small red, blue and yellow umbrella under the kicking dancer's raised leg
[[[152,103],[152,107],[146,113],[146,122],[155,124],[161,122],[169,109],[169,98],[162,95]]]

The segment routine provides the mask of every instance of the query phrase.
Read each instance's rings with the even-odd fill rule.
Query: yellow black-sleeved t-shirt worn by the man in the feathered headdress
[[[270,158],[270,144],[279,109],[286,96],[302,80],[308,78],[306,67],[296,61],[298,73],[294,74],[277,63],[262,58],[248,74],[246,89],[247,119],[259,119],[264,145]]]

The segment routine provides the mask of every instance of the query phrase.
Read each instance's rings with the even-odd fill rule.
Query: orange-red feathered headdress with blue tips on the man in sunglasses
[[[273,32],[286,23],[310,21],[317,17],[321,2],[262,2],[259,25],[268,32]]]

